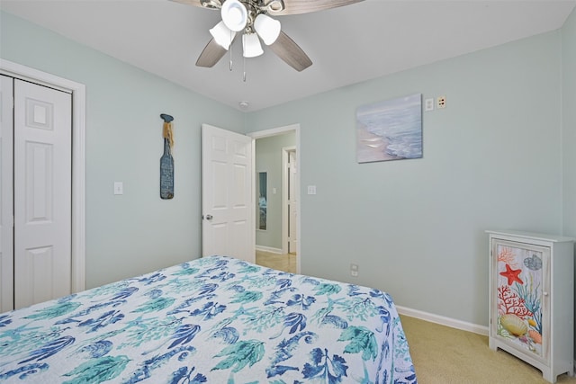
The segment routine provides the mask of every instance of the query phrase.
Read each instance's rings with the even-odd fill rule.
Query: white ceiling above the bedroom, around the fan
[[[290,0],[284,0],[290,1]],[[246,60],[239,40],[212,68],[195,67],[220,13],[167,0],[1,0],[0,8],[247,111],[452,58],[562,27],[576,0],[365,0],[277,16],[313,65],[295,71],[271,49]],[[17,37],[14,37],[17,39]]]

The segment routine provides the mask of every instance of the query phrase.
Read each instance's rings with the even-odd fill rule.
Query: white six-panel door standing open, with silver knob
[[[202,124],[202,256],[256,260],[252,138]]]

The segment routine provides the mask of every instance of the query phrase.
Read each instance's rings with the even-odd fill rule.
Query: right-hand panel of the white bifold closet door
[[[22,308],[71,292],[72,100],[13,81],[14,308]]]

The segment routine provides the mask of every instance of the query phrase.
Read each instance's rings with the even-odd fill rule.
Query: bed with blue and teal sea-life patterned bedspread
[[[0,382],[416,383],[383,291],[211,256],[0,314]]]

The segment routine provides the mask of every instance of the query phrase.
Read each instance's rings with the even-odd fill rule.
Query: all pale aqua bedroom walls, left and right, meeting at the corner
[[[202,122],[299,123],[302,272],[387,290],[401,306],[487,325],[484,230],[576,235],[573,13],[562,31],[246,115],[0,17],[2,58],[86,85],[88,286],[200,255]],[[356,107],[415,93],[447,97],[423,115],[424,157],[358,165]],[[175,116],[173,201],[157,191],[161,112]],[[317,195],[303,193],[311,184]]]

